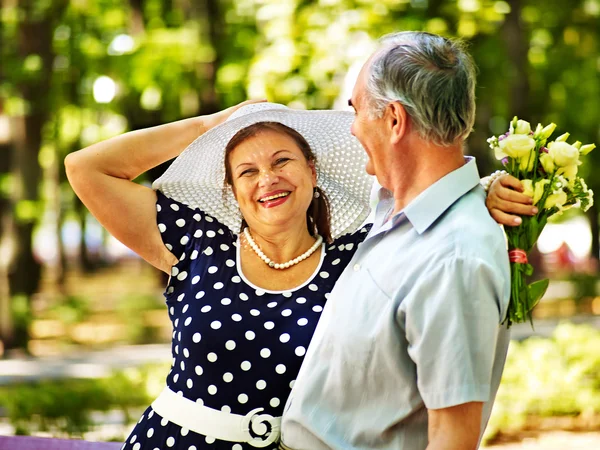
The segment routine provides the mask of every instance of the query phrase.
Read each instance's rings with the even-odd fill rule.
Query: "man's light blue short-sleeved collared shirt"
[[[502,230],[473,158],[375,223],[331,292],[282,422],[294,450],[427,447],[427,409],[484,402],[500,384],[510,295]]]

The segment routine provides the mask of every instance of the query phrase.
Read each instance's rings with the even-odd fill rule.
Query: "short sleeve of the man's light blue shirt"
[[[448,259],[400,305],[428,409],[490,399],[505,280],[488,263]]]

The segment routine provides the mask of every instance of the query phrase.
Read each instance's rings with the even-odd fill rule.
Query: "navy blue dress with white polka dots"
[[[268,291],[239,269],[237,235],[200,210],[157,192],[157,222],[179,262],[165,291],[173,323],[167,386],[210,408],[280,417],[323,311],[326,297],[367,229],[324,244],[321,262],[303,285]],[[124,449],[248,450],[256,447],[200,435],[149,407]],[[267,449],[276,449],[277,443]]]

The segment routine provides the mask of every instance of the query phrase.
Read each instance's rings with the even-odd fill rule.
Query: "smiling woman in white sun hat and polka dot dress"
[[[327,294],[366,234],[372,179],[353,115],[248,103],[65,161],[106,229],[171,275],[172,368],[126,449],[277,448]],[[178,155],[157,190],[132,181]]]

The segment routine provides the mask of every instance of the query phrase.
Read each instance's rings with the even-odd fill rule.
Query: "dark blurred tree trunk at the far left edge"
[[[13,172],[17,180],[14,196],[16,260],[9,274],[10,295],[19,299],[18,320],[15,322],[14,339],[8,347],[26,348],[30,299],[38,290],[41,265],[33,254],[33,231],[39,220],[40,207],[38,185],[41,170],[38,153],[42,145],[43,127],[50,114],[50,87],[52,84],[52,37],[56,20],[62,16],[68,2],[53,2],[45,14],[40,14],[37,2],[21,2],[23,21],[17,30],[17,57],[25,60],[31,55],[41,58],[38,76],[24,77],[18,87],[28,106],[20,126],[15,127]],[[23,214],[25,210],[25,214]],[[25,299],[25,301],[22,301]],[[21,304],[23,303],[23,304]],[[14,310],[14,308],[13,308]]]

